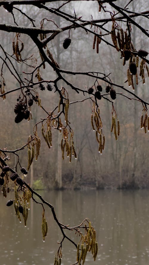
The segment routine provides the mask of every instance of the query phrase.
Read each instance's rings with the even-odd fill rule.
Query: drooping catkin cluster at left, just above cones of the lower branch
[[[28,145],[28,165],[27,165],[27,171],[30,169],[30,166],[32,164],[32,161],[35,156],[35,160],[37,161],[38,156],[39,156],[39,151],[40,151],[40,146],[41,146],[41,140],[39,137],[35,137],[35,142],[31,143],[31,148],[30,145]],[[36,153],[35,153],[35,147],[36,147]]]

